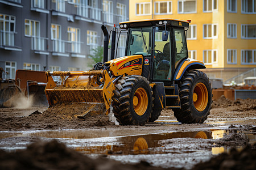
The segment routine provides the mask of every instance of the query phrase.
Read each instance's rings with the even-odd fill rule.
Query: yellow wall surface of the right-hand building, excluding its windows
[[[205,72],[213,78],[228,79],[237,74],[241,74],[241,71],[247,71],[256,67],[256,64],[241,64],[241,50],[243,49],[256,49],[255,39],[242,39],[241,38],[241,24],[256,24],[256,13],[254,14],[242,14],[241,1],[237,0],[237,12],[228,12],[228,1],[217,0],[217,9],[211,12],[203,11],[204,2],[206,0],[196,0],[196,12],[191,14],[179,14],[178,2],[172,0],[172,13],[171,14],[155,14],[155,8],[157,2],[167,2],[165,0],[134,0],[130,1],[130,20],[141,19],[159,19],[159,18],[173,18],[180,20],[192,20],[190,25],[196,24],[196,39],[187,40],[188,50],[196,50],[196,59],[203,60],[204,50],[217,50],[217,62],[205,65],[207,69]],[[148,2],[151,5],[150,14],[148,15],[136,15],[137,3]],[[256,3],[256,1],[255,1]],[[256,11],[256,10],[255,10]],[[237,24],[237,38],[230,39],[227,37],[228,23]],[[216,39],[204,39],[204,24],[217,24],[217,38]],[[236,64],[228,63],[228,49],[237,50],[237,62]],[[256,55],[256,54],[255,54]],[[256,56],[255,56],[256,60]],[[254,61],[256,62],[256,61]]]

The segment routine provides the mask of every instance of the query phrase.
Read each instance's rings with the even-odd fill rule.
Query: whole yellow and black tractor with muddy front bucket
[[[105,25],[104,62],[89,71],[47,71],[49,106],[85,103],[86,113],[108,114],[110,106],[120,125],[144,125],[158,119],[162,109],[172,109],[177,121],[203,123],[212,104],[212,87],[204,63],[188,58],[185,32],[189,21],[149,19],[119,23],[109,33]],[[115,37],[127,33],[125,57],[116,57]],[[119,37],[118,37],[119,40]],[[118,41],[117,41],[118,45]],[[60,76],[56,84],[52,76]],[[92,109],[93,108],[93,109]]]

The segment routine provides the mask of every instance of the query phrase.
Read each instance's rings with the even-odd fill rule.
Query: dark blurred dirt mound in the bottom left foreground
[[[0,150],[0,169],[163,169],[146,162],[122,164],[101,156],[97,159],[67,148],[57,141],[32,143],[24,151],[7,153]],[[176,169],[176,168],[174,168]]]

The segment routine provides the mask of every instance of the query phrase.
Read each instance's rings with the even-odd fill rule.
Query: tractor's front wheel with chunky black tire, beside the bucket
[[[152,88],[146,78],[129,75],[115,85],[113,113],[120,125],[144,125],[152,111]]]

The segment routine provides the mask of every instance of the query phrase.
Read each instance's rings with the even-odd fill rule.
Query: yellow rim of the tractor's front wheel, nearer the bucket
[[[147,92],[144,88],[140,87],[135,91],[133,97],[133,108],[136,114],[142,116],[146,110],[148,105],[148,97]]]

